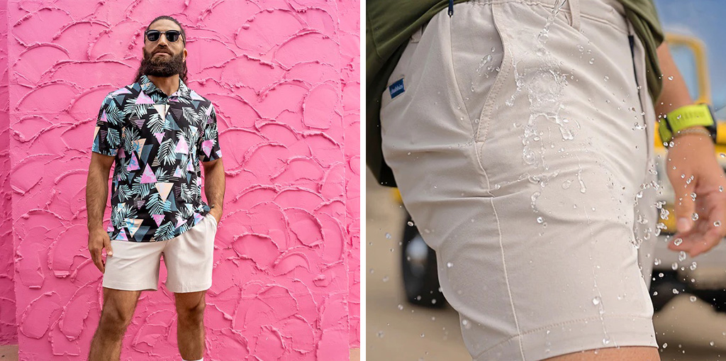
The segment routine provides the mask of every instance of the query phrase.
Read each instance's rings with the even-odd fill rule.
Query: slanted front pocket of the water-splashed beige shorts
[[[500,4],[465,4],[455,10],[449,31],[454,85],[476,141],[483,142],[499,89],[513,64],[495,16]]]

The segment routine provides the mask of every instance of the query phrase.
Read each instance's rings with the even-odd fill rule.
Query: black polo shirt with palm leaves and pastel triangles
[[[92,151],[115,157],[112,240],[169,240],[208,214],[199,161],[222,156],[216,112],[181,79],[168,96],[147,76],[109,93]]]

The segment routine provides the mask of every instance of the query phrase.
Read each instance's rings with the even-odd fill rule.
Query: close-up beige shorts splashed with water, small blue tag
[[[383,95],[383,155],[475,360],[657,346],[643,45],[619,1],[568,3],[548,31],[555,0],[444,9]]]

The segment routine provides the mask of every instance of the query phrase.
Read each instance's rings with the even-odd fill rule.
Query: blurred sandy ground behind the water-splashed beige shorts
[[[405,301],[398,263],[404,211],[390,188],[379,187],[370,172],[366,191],[367,360],[471,360],[453,309],[426,309]],[[709,304],[679,296],[653,323],[658,344],[665,346],[661,360],[726,361],[726,314],[712,311]]]

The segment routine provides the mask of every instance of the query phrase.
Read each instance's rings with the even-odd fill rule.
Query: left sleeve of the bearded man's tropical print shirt
[[[113,96],[108,94],[98,112],[91,151],[115,156],[121,147],[121,112]]]

